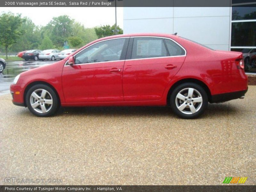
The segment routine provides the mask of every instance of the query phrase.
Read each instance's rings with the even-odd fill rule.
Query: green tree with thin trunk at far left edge
[[[6,59],[8,59],[8,47],[16,43],[25,32],[19,29],[24,21],[20,14],[14,15],[12,12],[0,16],[0,44],[5,48]]]

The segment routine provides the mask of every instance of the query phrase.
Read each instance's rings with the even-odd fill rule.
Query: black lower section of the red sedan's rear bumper
[[[229,101],[233,99],[238,99],[244,96],[247,91],[248,91],[248,87],[244,91],[236,91],[236,92],[212,95],[212,100],[210,101],[210,103],[219,103],[219,102]]]

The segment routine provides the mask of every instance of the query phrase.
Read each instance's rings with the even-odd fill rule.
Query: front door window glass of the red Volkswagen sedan
[[[124,42],[125,38],[120,38],[96,43],[78,53],[75,64],[120,60]]]

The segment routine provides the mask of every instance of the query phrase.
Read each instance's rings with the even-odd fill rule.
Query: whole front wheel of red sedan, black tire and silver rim
[[[60,106],[56,93],[44,84],[34,85],[28,90],[26,104],[29,111],[39,117],[54,115]]]

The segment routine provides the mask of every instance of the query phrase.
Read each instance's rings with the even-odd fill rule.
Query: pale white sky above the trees
[[[21,13],[36,25],[46,25],[52,17],[68,15],[85,28],[115,24],[115,7],[1,7],[0,12]],[[123,28],[123,7],[116,8],[117,25]]]

